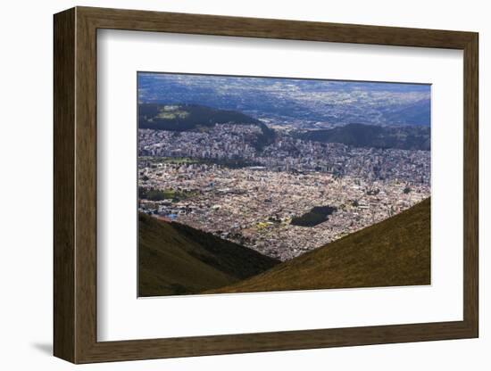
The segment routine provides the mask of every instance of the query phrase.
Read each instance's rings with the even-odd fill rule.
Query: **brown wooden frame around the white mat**
[[[121,342],[96,339],[96,31],[461,49],[463,320]],[[300,350],[479,335],[477,33],[76,7],[54,15],[54,355],[73,363]]]

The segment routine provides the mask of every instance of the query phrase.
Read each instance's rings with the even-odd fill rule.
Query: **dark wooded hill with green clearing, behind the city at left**
[[[258,148],[270,144],[275,136],[274,130],[262,121],[239,111],[218,110],[199,104],[138,104],[138,128],[188,131],[227,123],[261,128],[262,136],[258,136],[254,143]]]

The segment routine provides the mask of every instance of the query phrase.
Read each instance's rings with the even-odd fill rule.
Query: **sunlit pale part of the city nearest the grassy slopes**
[[[410,156],[407,159],[411,161]],[[356,161],[360,165],[353,165],[354,169],[370,159],[359,156]],[[363,172],[339,176],[321,170],[278,171],[268,166],[230,169],[210,162],[159,157],[140,157],[138,168],[139,187],[189,194],[139,200],[140,211],[219,235],[279,260],[294,258],[389,218],[430,193],[427,182],[377,179]],[[293,217],[315,206],[337,210],[314,227],[290,224]]]

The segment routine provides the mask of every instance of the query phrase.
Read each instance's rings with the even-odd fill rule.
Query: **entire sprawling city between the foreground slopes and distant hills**
[[[289,260],[429,197],[429,151],[321,144],[287,133],[258,150],[260,132],[236,124],[139,129],[138,187],[165,191],[140,197],[139,210]],[[336,211],[325,222],[291,224],[328,205]]]

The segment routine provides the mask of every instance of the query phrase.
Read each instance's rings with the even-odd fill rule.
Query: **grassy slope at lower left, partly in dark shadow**
[[[139,296],[201,293],[278,263],[195,228],[138,215]]]

